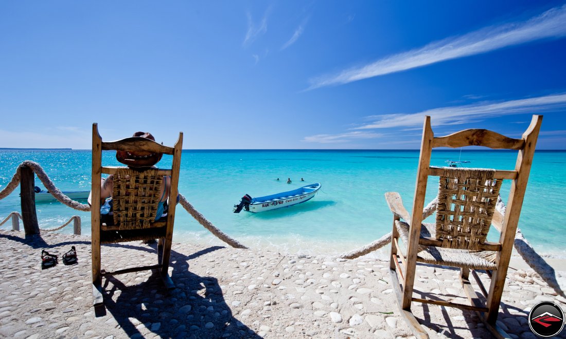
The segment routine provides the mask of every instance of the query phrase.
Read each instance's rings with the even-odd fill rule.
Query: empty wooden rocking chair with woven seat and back
[[[409,215],[398,193],[385,194],[394,215],[389,264],[393,290],[401,314],[417,338],[428,338],[428,334],[410,310],[413,301],[477,311],[494,336],[508,337],[496,325],[496,320],[541,122],[541,115],[533,116],[521,139],[508,138],[486,129],[466,129],[449,136],[434,137],[430,116],[424,119],[413,213]],[[430,166],[433,148],[464,146],[518,150],[515,169],[503,171]],[[426,218],[423,205],[428,176],[440,177],[436,223],[422,224]],[[507,212],[502,218],[495,211],[495,204],[504,179],[512,182]],[[492,223],[500,226],[501,236],[496,243],[486,241]],[[401,250],[399,240],[405,245],[406,255]],[[471,305],[413,297],[417,262],[459,267],[462,286]],[[470,285],[470,270],[486,303],[479,299]],[[491,276],[488,290],[473,270],[488,272]]]

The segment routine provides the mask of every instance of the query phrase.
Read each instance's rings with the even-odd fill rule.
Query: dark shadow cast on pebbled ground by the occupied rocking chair
[[[136,245],[108,245],[155,251]],[[190,271],[188,260],[221,246],[212,246],[191,255],[171,251],[171,279],[177,286],[168,291],[160,273],[153,270],[145,281],[126,285],[122,276],[104,280],[104,306],[96,307],[97,316],[112,314],[128,337],[145,337],[155,333],[164,338],[220,338],[222,336],[260,338],[252,329],[234,318],[226,305],[218,280]],[[130,276],[131,278],[131,276]],[[128,279],[129,281],[129,279]]]

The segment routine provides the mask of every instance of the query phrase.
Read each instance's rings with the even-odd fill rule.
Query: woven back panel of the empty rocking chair
[[[477,250],[486,241],[500,179],[495,169],[445,168],[436,204],[436,239],[442,247]]]

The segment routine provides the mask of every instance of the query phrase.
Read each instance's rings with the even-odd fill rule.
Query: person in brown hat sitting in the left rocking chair
[[[155,141],[155,137],[149,132],[135,132],[133,137],[142,137]],[[161,160],[161,153],[151,153],[147,151],[116,151],[116,159],[127,165],[131,169],[137,171],[144,171],[148,168],[154,168],[154,165]],[[100,220],[106,225],[113,225],[113,212],[112,212],[112,195],[114,180],[113,175],[108,176],[106,179],[102,178],[100,184]],[[171,177],[164,176],[161,183],[160,200],[157,203],[157,214],[155,220],[159,220],[167,216],[169,197],[169,189],[171,185]],[[88,202],[91,202],[91,197],[88,197]],[[179,195],[177,195],[177,203],[179,202]]]

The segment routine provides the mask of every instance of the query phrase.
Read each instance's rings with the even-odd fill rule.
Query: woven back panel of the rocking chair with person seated
[[[114,175],[114,225],[120,230],[151,227],[161,199],[163,176],[157,169],[119,168]]]

